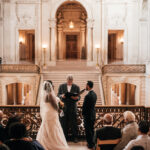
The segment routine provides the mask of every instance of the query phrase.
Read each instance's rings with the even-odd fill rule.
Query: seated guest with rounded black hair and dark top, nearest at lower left
[[[6,141],[5,144],[10,150],[36,150],[29,141],[24,140],[26,134],[27,131],[24,124],[14,123],[10,126],[9,130],[11,139]]]

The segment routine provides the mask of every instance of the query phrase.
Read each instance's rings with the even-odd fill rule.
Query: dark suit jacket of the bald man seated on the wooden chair
[[[112,126],[106,126],[96,131],[95,140],[114,140],[121,138],[121,130]],[[101,150],[113,150],[116,145],[102,145]]]

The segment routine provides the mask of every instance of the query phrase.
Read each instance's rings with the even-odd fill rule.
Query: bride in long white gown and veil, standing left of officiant
[[[40,103],[42,124],[37,134],[37,140],[45,150],[68,150],[58,116],[59,98],[56,97],[51,81],[44,82],[43,100]]]

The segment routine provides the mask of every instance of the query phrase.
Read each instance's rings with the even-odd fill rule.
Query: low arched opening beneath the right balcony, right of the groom
[[[112,85],[111,104],[136,105],[136,85],[130,83]]]

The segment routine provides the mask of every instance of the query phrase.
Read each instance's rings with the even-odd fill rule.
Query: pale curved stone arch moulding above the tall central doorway
[[[67,2],[70,2],[69,0],[57,0],[55,1],[55,3],[53,4],[53,8],[52,8],[52,11],[51,11],[51,14],[50,14],[50,18],[51,19],[55,19],[56,18],[56,13],[57,13],[57,10],[58,8],[63,4],[63,3],[67,3]],[[74,1],[71,1],[71,2],[77,2],[77,3],[80,3],[86,10],[87,12],[87,16],[88,18],[92,19],[93,18],[93,15],[92,15],[92,11],[91,11],[91,8],[89,7],[88,3],[83,2],[83,0],[74,0]]]

